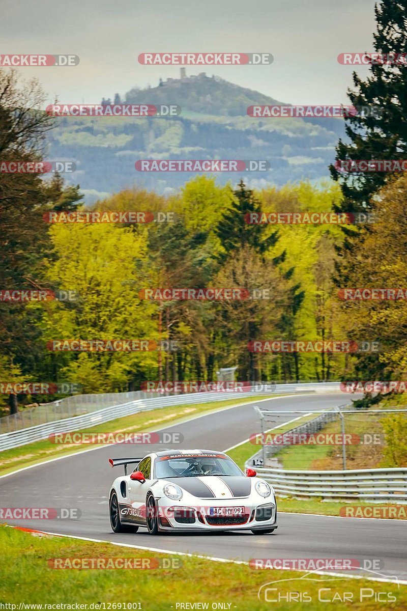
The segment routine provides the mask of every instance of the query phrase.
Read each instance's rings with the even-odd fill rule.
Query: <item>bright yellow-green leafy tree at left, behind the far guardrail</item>
[[[153,304],[139,298],[146,264],[146,229],[134,232],[114,225],[55,225],[51,229],[56,260],[47,278],[77,291],[73,304],[50,304],[43,338],[82,340],[149,339],[157,333]],[[148,375],[154,352],[54,353],[59,375],[84,385],[84,392],[127,390],[130,379]]]

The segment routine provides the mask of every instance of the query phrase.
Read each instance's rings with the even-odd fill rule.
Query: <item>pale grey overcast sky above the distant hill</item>
[[[18,68],[64,103],[98,103],[137,85],[177,77],[139,53],[272,53],[267,66],[187,67],[292,104],[347,103],[344,52],[370,51],[374,0],[1,0],[2,54],[76,54],[76,67]],[[358,68],[362,76],[367,68]],[[148,100],[146,100],[148,101]]]

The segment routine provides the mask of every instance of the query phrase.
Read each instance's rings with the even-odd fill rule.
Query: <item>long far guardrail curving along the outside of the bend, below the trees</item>
[[[276,394],[280,393],[304,393],[304,392],[339,392],[339,382],[320,382],[320,383],[306,383],[306,384],[277,384],[275,387]],[[131,393],[117,393],[116,395],[110,395],[113,401],[118,400],[118,395],[128,396]],[[135,393],[134,393],[135,394]],[[89,428],[115,420],[126,415],[137,414],[142,411],[149,411],[151,409],[165,408],[167,406],[182,405],[185,403],[206,403],[209,401],[222,401],[230,400],[231,398],[254,398],[254,395],[261,397],[262,394],[270,395],[270,391],[264,391],[264,393],[253,393],[253,392],[196,392],[188,393],[185,395],[172,395],[170,397],[153,397],[151,393],[140,393],[143,398],[137,398],[132,401],[123,401],[119,404],[110,404],[109,406],[97,409],[95,411],[89,411],[82,415],[75,415],[74,417],[51,420],[49,422],[41,423],[35,426],[29,426],[20,430],[7,431],[7,433],[0,434],[0,451],[9,450],[20,445],[31,444],[34,441],[40,441],[46,439],[51,433],[70,433],[71,431],[81,430],[83,428]],[[157,395],[157,393],[155,393]],[[86,405],[84,397],[100,397],[103,403],[104,395],[76,395],[78,400],[81,401],[81,405]],[[72,397],[68,397],[71,399]],[[61,400],[62,401],[65,400]],[[95,403],[89,402],[93,406]],[[52,412],[51,412],[52,413]]]

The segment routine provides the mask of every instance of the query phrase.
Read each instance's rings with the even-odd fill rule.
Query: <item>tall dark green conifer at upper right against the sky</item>
[[[377,30],[373,34],[377,53],[407,53],[407,4],[404,1],[383,0],[375,6]],[[350,144],[340,140],[336,148],[337,161],[346,159],[405,159],[407,158],[407,59],[403,63],[373,62],[366,81],[354,72],[355,89],[348,90],[350,102],[356,108],[378,107],[378,112],[345,118],[345,131]],[[370,115],[370,116],[369,116]],[[372,197],[389,179],[389,172],[344,174],[331,166],[331,175],[340,182],[345,210],[370,208]]]

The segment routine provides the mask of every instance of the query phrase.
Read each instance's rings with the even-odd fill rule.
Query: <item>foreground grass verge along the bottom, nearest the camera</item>
[[[256,536],[256,535],[253,535]],[[274,535],[273,535],[274,536]],[[278,536],[278,535],[277,535]],[[152,544],[156,544],[156,540]],[[137,544],[137,535],[134,535]],[[384,584],[366,579],[340,577],[325,582],[323,576],[312,575],[315,581],[300,580],[303,573],[295,571],[254,570],[247,565],[231,562],[214,562],[196,557],[158,554],[109,543],[93,543],[55,536],[33,536],[20,530],[0,527],[0,601],[15,604],[115,604],[115,609],[124,609],[123,604],[140,603],[143,611],[176,611],[178,603],[207,602],[230,604],[230,609],[239,611],[261,611],[278,608],[281,611],[297,609],[293,602],[279,602],[278,606],[258,600],[258,590],[270,581],[294,579],[271,585],[278,588],[274,596],[286,596],[286,592],[308,593],[312,602],[306,603],[309,611],[326,609],[326,603],[318,601],[320,588],[324,598],[337,593],[352,597],[352,609],[366,611],[380,609],[406,609],[407,587]],[[260,554],[264,556],[263,554]],[[171,558],[179,568],[171,569],[53,569],[48,565],[52,558]],[[362,602],[361,588],[371,588],[373,593]],[[389,593],[395,602],[375,602],[375,593]],[[366,594],[366,591],[364,591]],[[271,595],[270,595],[271,596]],[[385,596],[384,594],[382,595]],[[122,606],[119,607],[119,604]],[[97,609],[98,607],[93,607]],[[103,607],[101,607],[103,609]],[[228,607],[226,607],[227,609]],[[88,607],[89,609],[89,607]],[[113,607],[110,607],[113,609]],[[180,607],[178,607],[180,609]],[[350,609],[349,603],[336,602],[338,611]]]

